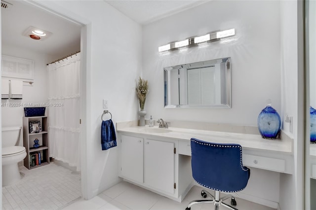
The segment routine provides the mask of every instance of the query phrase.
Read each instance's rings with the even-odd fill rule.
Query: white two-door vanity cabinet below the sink
[[[178,140],[118,132],[124,180],[181,202],[193,186],[190,157],[179,156]],[[180,166],[180,167],[179,167]]]

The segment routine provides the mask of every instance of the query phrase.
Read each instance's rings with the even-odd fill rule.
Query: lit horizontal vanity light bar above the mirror
[[[196,46],[199,43],[203,42],[213,42],[213,41],[218,41],[221,38],[226,38],[230,36],[235,35],[235,29],[229,29],[225,31],[219,31],[219,32],[212,32],[207,35],[202,35],[202,36],[196,36],[196,37],[191,37],[187,38],[186,40],[183,41],[174,41],[166,45],[162,45],[158,47],[158,52],[164,52],[168,50],[176,50],[181,47],[191,47],[191,46]]]

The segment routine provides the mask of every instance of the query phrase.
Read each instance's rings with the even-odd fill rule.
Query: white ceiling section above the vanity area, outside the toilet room
[[[209,0],[104,0],[118,11],[140,24],[195,7]]]

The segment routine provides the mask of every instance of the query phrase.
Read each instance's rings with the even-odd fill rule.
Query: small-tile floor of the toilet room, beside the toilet
[[[53,162],[20,172],[18,183],[2,187],[2,210],[58,210],[81,197],[80,174]]]

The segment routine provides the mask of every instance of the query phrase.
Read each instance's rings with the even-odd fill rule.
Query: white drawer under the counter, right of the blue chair
[[[244,166],[266,169],[270,171],[285,172],[285,160],[269,158],[257,155],[242,155],[242,164]]]

